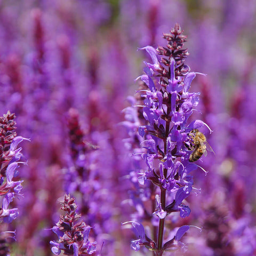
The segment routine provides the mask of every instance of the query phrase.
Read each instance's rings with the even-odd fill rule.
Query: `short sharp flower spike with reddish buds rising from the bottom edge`
[[[77,205],[75,198],[65,195],[63,201],[60,201],[61,210],[65,211],[64,215],[60,215],[60,220],[52,228],[58,235],[58,241],[51,241],[54,245],[52,252],[59,255],[61,251],[67,255],[83,255],[93,254],[96,250],[96,242],[89,242],[90,226],[79,220],[81,214],[76,213]]]

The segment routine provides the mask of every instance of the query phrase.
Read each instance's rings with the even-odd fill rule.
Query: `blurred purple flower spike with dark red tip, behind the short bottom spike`
[[[115,198],[111,196],[113,186],[108,177],[108,160],[103,167],[99,161],[106,154],[104,150],[109,153],[109,147],[106,141],[106,145],[102,143],[104,134],[97,133],[93,138],[92,133],[82,128],[79,118],[79,112],[70,108],[67,116],[69,154],[67,168],[64,169],[65,192],[76,197],[79,213],[87,225],[94,227],[91,237],[98,244],[104,243],[105,253],[114,242],[110,234],[117,227],[113,221],[113,209],[109,207]],[[94,145],[95,142],[99,142],[99,146]]]

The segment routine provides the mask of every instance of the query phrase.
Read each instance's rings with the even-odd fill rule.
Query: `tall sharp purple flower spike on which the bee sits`
[[[187,37],[182,35],[183,31],[178,23],[170,32],[164,34],[166,47],[141,48],[149,53],[153,63],[145,62],[145,74],[139,77],[145,87],[138,91],[143,99],[143,106],[133,106],[143,107],[142,115],[147,121],[146,125],[139,127],[139,134],[145,139],[141,142],[142,148],[145,149],[141,156],[147,170],[138,174],[138,181],[145,185],[147,180],[150,180],[157,186],[154,189],[153,214],[159,219],[158,234],[154,234],[154,239],[150,239],[146,236],[142,223],[124,223],[131,223],[139,237],[132,242],[133,249],[138,251],[145,245],[154,255],[162,255],[166,250],[183,246],[180,239],[189,226],[179,228],[177,233],[172,237],[168,236],[171,239],[163,244],[164,223],[170,213],[179,212],[181,218],[190,214],[189,206],[183,201],[193,190],[191,172],[198,167],[190,158],[194,152],[192,150],[198,149],[194,140],[191,140],[191,131],[202,126],[210,130],[201,120],[189,122],[193,108],[199,101],[199,93],[189,92],[196,73],[190,72],[190,68],[184,63],[188,52],[182,46]],[[201,149],[204,151],[203,147]]]

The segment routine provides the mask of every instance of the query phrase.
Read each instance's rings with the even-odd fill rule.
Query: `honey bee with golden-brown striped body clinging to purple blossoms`
[[[192,143],[194,144],[192,146],[194,151],[189,156],[189,162],[196,162],[202,155],[207,156],[207,150],[214,153],[202,132],[199,132],[197,129],[193,129],[189,133],[189,136],[191,137]]]

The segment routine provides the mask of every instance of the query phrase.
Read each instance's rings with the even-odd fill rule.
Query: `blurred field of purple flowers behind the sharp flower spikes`
[[[175,22],[188,36],[187,65],[207,74],[191,86],[201,92],[193,118],[213,130],[204,132],[215,155],[203,159],[206,176],[193,173],[201,194],[188,199],[190,217],[170,228],[204,227],[185,236],[185,255],[255,255],[255,17],[254,0],[0,1],[0,111],[15,113],[18,135],[31,140],[11,255],[52,255],[65,193],[94,227],[92,241],[105,241],[102,255],[135,253],[121,228],[138,210],[122,110],[148,59],[138,47],[164,46]]]

